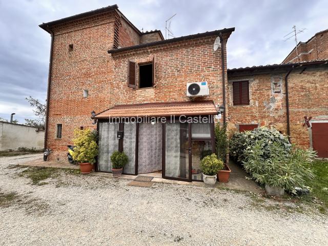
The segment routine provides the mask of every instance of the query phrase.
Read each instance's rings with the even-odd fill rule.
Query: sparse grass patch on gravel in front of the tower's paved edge
[[[78,169],[59,169],[59,168],[44,168],[44,167],[28,167],[18,175],[21,177],[30,178],[33,185],[43,186],[47,185],[47,182],[42,182],[47,178],[54,178],[59,175],[60,172],[69,173],[73,175],[80,174]]]

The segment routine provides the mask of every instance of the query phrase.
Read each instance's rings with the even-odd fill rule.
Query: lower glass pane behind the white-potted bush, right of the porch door
[[[191,179],[202,180],[200,160],[212,154],[212,142],[193,140],[191,142]]]

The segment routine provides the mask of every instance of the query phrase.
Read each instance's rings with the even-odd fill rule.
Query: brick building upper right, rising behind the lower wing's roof
[[[317,59],[328,59],[328,29],[316,33],[305,43],[299,42],[297,50],[295,47],[282,63],[297,63]]]

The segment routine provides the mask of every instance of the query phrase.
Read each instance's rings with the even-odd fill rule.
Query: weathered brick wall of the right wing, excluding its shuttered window
[[[295,69],[289,75],[291,140],[298,146],[310,147],[309,129],[303,127],[304,116],[313,120],[328,119],[328,66]],[[285,73],[249,76],[229,76],[229,128],[239,124],[259,124],[287,132]],[[250,105],[233,106],[232,81],[250,80]],[[281,92],[279,92],[281,91]]]

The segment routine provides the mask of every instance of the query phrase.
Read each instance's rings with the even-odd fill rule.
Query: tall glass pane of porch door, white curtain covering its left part
[[[166,123],[165,176],[186,178],[189,176],[188,124]]]

